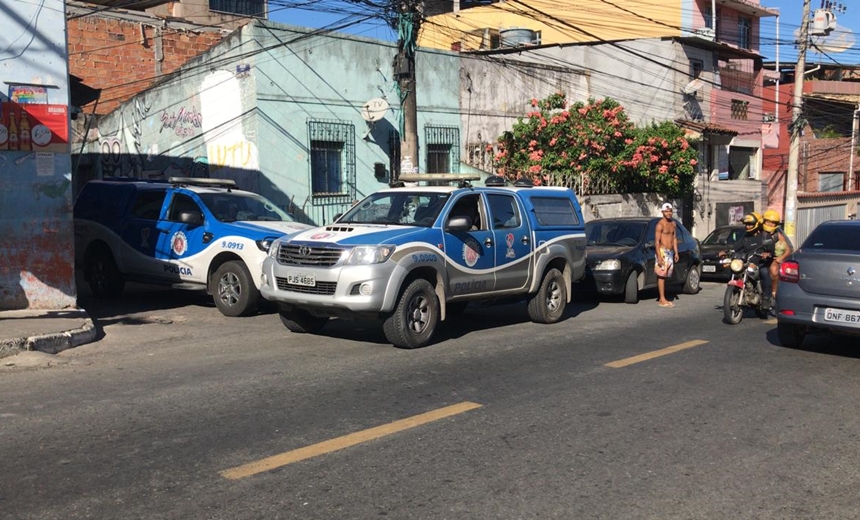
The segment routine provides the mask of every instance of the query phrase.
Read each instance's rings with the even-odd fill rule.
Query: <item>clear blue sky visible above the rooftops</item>
[[[843,14],[836,14],[838,26],[846,28],[851,33],[860,30],[860,2],[848,5],[849,0],[840,1],[846,6],[846,10]],[[284,5],[298,2],[281,1],[278,3]],[[366,9],[363,6],[360,7],[355,2],[339,0],[318,0],[311,2],[310,5],[313,5],[316,10],[283,9],[270,0],[270,19],[291,25],[322,28],[339,22],[352,21],[355,18],[350,18],[350,15],[355,15]],[[762,19],[761,54],[765,57],[766,61],[775,61],[777,57],[781,63],[796,61],[797,50],[792,42],[795,38],[794,32],[800,26],[803,0],[761,0],[761,5],[776,8],[780,11],[778,40],[776,36],[777,19]],[[822,0],[811,0],[810,11],[814,11],[821,6]],[[332,12],[338,10],[341,12]],[[394,32],[381,20],[362,23],[344,29],[343,32],[389,41],[396,39]],[[860,35],[854,37],[860,40]],[[808,64],[819,62],[832,63],[834,61],[845,65],[860,64],[860,41],[856,41],[851,48],[842,52],[829,50],[821,53],[816,52],[815,49],[811,49],[809,54],[807,54],[806,61]]]

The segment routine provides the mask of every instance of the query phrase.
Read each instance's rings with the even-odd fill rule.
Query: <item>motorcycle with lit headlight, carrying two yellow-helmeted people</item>
[[[724,321],[731,325],[737,325],[744,319],[744,310],[753,309],[761,319],[765,319],[770,312],[770,306],[765,306],[764,291],[761,286],[761,272],[759,266],[762,264],[761,249],[757,248],[749,255],[738,252],[732,255],[729,268],[732,278],[726,285],[726,295],[723,299]]]

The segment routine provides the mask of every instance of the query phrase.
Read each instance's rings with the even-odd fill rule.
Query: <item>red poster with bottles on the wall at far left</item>
[[[0,104],[0,150],[69,152],[69,108],[26,102]]]

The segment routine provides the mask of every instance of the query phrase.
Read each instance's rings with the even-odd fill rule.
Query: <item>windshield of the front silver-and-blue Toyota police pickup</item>
[[[338,223],[430,227],[445,207],[449,195],[410,191],[374,193],[350,208]]]

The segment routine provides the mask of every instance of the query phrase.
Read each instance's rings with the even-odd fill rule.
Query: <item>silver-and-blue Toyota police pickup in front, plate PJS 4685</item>
[[[418,186],[452,177],[458,186]],[[574,193],[459,177],[402,175],[416,186],[373,193],[332,224],[276,240],[263,297],[293,332],[317,332],[332,317],[381,318],[400,348],[427,345],[439,322],[474,300],[524,298],[533,321],[559,321],[585,273]]]

